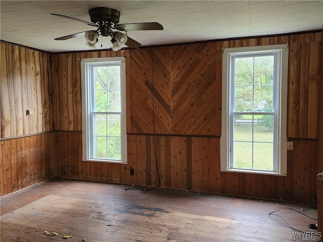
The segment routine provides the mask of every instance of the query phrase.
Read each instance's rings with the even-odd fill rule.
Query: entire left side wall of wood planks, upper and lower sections
[[[1,43],[1,196],[56,176],[52,54]],[[26,115],[31,109],[32,115]],[[55,169],[53,169],[55,167]]]

